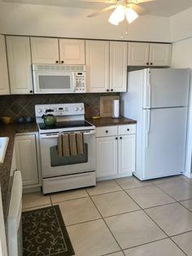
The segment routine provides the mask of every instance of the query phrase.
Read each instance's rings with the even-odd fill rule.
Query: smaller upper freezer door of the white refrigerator
[[[190,70],[187,68],[144,69],[143,108],[188,105]]]

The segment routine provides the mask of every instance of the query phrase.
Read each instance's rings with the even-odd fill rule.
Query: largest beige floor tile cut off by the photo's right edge
[[[192,230],[192,213],[178,203],[147,209],[146,213],[168,236]]]

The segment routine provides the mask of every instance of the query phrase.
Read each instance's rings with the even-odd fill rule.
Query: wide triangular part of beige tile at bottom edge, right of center
[[[137,246],[132,249],[126,249],[125,255],[128,256],[184,256],[181,249],[177,247],[170,239],[155,241],[150,244]]]

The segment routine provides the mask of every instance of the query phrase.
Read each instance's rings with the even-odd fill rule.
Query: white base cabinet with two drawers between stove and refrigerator
[[[136,125],[96,128],[98,179],[131,176],[135,171]]]

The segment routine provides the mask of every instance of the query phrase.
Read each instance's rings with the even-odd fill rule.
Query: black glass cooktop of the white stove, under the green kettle
[[[90,127],[93,126],[85,120],[81,121],[59,121],[54,126],[46,126],[44,123],[38,123],[40,130],[54,130],[54,129],[66,129],[66,128],[77,128],[77,127]]]

